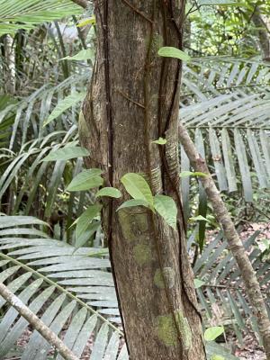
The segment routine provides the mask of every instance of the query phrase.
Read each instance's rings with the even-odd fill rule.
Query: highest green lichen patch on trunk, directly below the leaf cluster
[[[135,241],[145,237],[148,233],[148,214],[139,207],[118,211],[121,232],[128,241]]]

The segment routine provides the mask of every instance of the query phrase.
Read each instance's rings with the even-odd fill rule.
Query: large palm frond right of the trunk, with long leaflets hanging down
[[[220,191],[235,193],[242,187],[246,202],[253,202],[255,187],[270,188],[270,67],[259,61],[224,60],[211,62],[212,67],[203,62],[196,66],[199,74],[186,68],[184,88],[192,93],[182,103],[180,119],[195,142],[204,139],[200,152],[203,157],[203,148]]]

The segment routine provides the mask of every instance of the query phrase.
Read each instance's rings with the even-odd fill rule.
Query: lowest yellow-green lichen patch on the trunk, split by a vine
[[[157,337],[166,345],[166,347],[175,347],[178,341],[181,341],[184,351],[192,347],[192,330],[183,311],[177,310],[173,314],[157,317]],[[175,328],[175,323],[177,328]]]

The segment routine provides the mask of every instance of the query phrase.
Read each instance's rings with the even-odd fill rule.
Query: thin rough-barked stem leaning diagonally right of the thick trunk
[[[238,264],[252,311],[257,318],[259,333],[266,350],[266,359],[270,360],[270,320],[264,297],[261,293],[256,273],[247,256],[247,251],[238,236],[238,232],[229,216],[229,211],[221,199],[220,192],[211,178],[205,160],[198,154],[192,139],[190,139],[187,130],[184,129],[181,123],[179,124],[179,139],[187,157],[190,159],[193,169],[208,175],[201,177],[202,186],[211,202],[216,219],[220,222],[224,231],[229,249]]]

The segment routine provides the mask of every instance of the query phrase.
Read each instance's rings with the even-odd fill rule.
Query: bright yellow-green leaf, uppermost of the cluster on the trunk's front
[[[154,208],[154,199],[146,180],[139,174],[128,173],[121,177],[121,184],[135,200],[148,202],[150,209]]]

